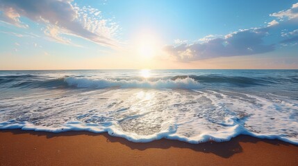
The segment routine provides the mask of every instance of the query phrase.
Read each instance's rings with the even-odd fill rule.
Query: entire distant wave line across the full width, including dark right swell
[[[85,77],[71,75],[46,77],[42,75],[0,76],[0,88],[147,88],[197,89],[206,84],[258,86],[298,83],[297,77],[242,77],[226,75],[176,75],[167,77]]]

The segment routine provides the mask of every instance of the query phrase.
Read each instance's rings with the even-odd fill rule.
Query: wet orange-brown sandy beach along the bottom
[[[298,165],[298,146],[238,136],[192,145],[129,142],[107,133],[0,131],[1,165]]]

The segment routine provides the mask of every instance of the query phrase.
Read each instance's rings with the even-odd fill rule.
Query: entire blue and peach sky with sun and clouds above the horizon
[[[298,1],[0,0],[0,70],[298,68]]]

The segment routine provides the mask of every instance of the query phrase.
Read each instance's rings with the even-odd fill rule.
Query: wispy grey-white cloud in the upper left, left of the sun
[[[27,17],[32,21],[46,24],[50,29],[56,28],[56,33],[46,31],[46,35],[56,39],[57,42],[65,42],[60,34],[67,33],[104,46],[115,46],[116,43],[111,39],[111,33],[115,32],[117,26],[108,26],[99,23],[100,21],[94,22],[94,24],[90,23],[94,17],[90,18],[88,14],[82,15],[81,8],[72,5],[72,0],[0,0],[0,10],[2,11],[0,17],[2,21],[18,27],[28,27],[19,20],[20,17]],[[93,13],[93,15],[100,13],[97,9],[85,11]],[[82,17],[85,22],[81,22]],[[100,31],[99,28],[106,31]]]

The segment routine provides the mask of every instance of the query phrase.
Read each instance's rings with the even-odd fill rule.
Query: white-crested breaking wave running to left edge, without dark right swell
[[[19,75],[18,79],[12,79],[11,76],[0,78],[0,87],[2,88],[95,88],[104,89],[111,87],[118,88],[145,88],[145,89],[197,89],[199,82],[186,77],[183,79],[165,79],[142,77],[133,78],[90,78],[78,76],[66,76],[55,79],[36,79],[28,75]],[[19,79],[22,78],[22,79]]]

